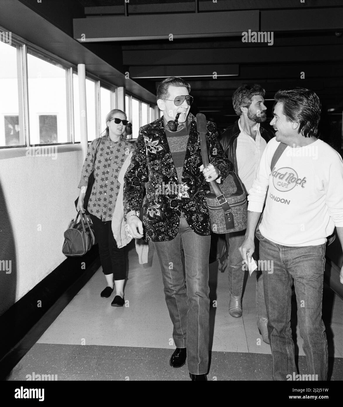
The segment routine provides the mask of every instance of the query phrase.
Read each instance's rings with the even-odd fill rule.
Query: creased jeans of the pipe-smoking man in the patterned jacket
[[[177,348],[187,348],[189,372],[208,370],[210,289],[208,256],[211,236],[193,232],[183,216],[178,234],[171,241],[154,242],[161,265],[165,301]],[[182,250],[185,269],[182,265]]]

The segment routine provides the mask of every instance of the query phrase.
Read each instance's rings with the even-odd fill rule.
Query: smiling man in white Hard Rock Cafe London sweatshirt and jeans
[[[266,199],[256,236],[261,261],[272,266],[263,271],[272,376],[287,380],[287,375],[297,374],[290,327],[294,281],[307,373],[326,380],[328,345],[321,319],[325,247],[335,226],[343,247],[343,162],[318,139],[321,103],[315,92],[280,90],[275,101],[270,124],[276,138],[268,142],[249,191],[247,232],[239,250],[250,262]],[[287,146],[270,168],[280,143]],[[343,267],[340,278],[343,283]]]

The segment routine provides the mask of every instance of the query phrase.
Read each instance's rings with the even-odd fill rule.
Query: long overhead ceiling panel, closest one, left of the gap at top
[[[259,29],[259,11],[221,11],[74,18],[80,42],[223,37]]]

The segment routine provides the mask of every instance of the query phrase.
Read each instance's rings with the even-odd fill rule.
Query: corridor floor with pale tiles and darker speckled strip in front
[[[243,317],[228,313],[227,275],[210,265],[211,368],[208,380],[271,380],[271,351],[258,333],[255,276],[247,277]],[[15,366],[8,380],[57,374],[58,380],[189,380],[187,364],[169,366],[174,350],[172,323],[165,305],[161,271],[154,250],[139,265],[129,251],[126,306],[111,307],[100,297],[106,282],[101,269]],[[325,290],[323,319],[329,342],[331,380],[343,379],[343,301]],[[302,340],[294,323],[300,372],[306,372]]]

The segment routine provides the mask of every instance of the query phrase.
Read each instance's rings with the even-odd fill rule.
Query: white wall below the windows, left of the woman
[[[56,159],[0,160],[0,260],[13,265],[11,274],[0,271],[0,314],[66,259],[63,232],[76,215],[83,160],[80,146],[58,147]]]

